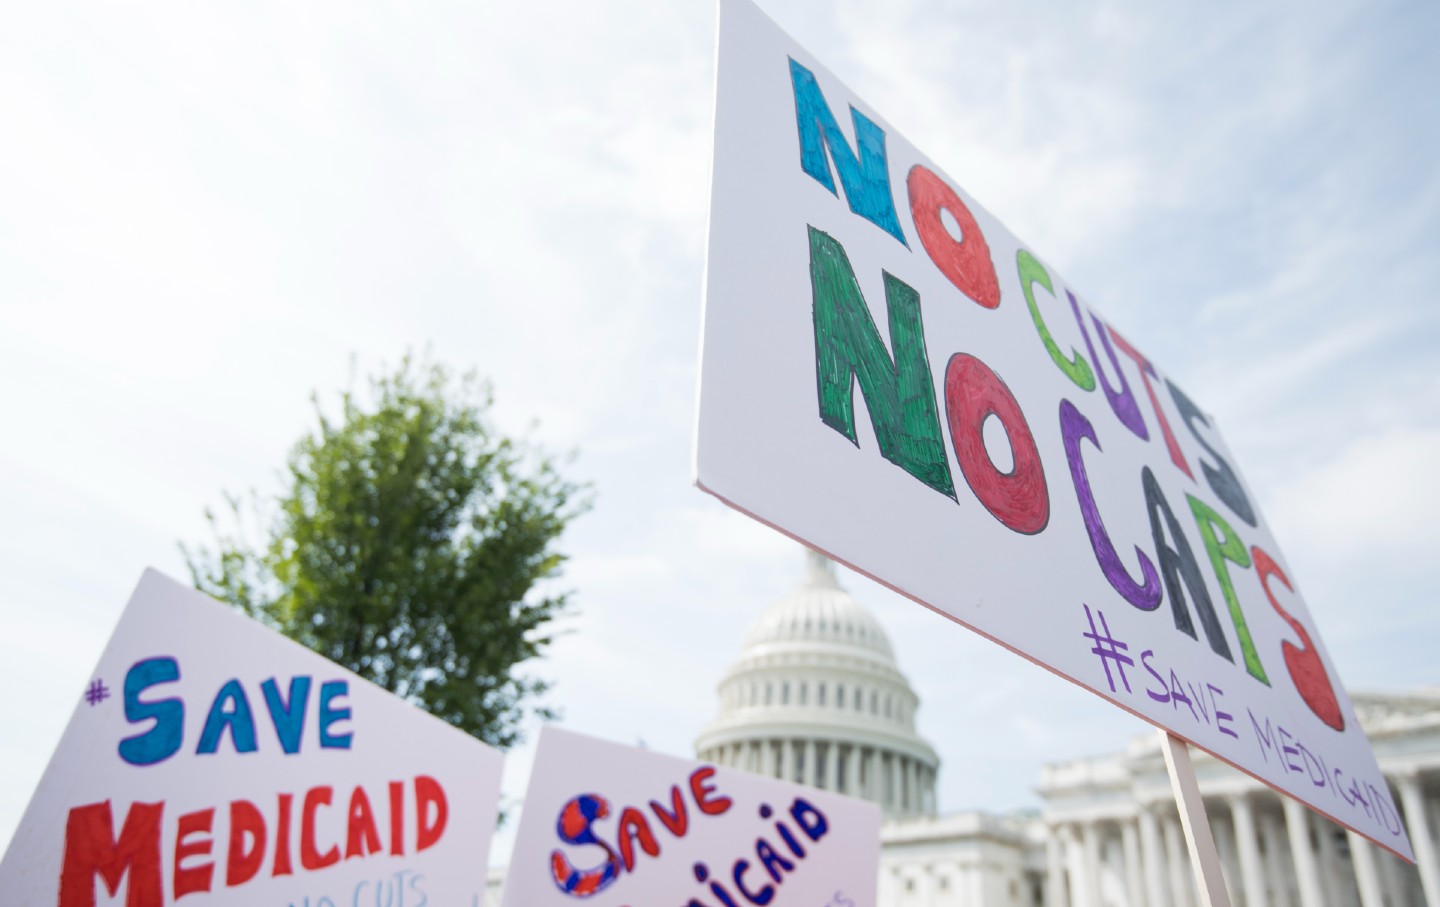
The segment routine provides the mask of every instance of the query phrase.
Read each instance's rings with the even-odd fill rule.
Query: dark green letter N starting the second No
[[[860,446],[851,394],[858,380],[880,455],[953,498],[955,482],[950,481],[930,360],[924,351],[920,294],[890,274],[884,275],[891,358],[870,317],[845,248],[815,227],[809,227],[809,243],[821,420]]]

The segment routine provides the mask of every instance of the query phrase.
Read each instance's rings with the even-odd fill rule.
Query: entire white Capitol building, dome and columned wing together
[[[1038,813],[942,813],[920,698],[819,554],[750,626],[719,694],[698,759],[881,806],[878,907],[1200,907],[1158,734],[1045,766]],[[1417,865],[1195,750],[1237,907],[1440,907],[1440,688],[1351,698]]]

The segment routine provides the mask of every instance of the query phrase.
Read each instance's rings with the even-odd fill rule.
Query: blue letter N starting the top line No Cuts
[[[795,125],[801,134],[801,168],[834,193],[835,177],[829,173],[829,161],[834,161],[850,210],[909,248],[910,243],[904,240],[900,219],[896,216],[894,197],[890,194],[886,131],[851,107],[850,117],[855,124],[855,147],[860,150],[857,160],[844,132],[840,131],[840,124],[835,122],[835,114],[825,104],[825,95],[819,94],[815,73],[792,59],[791,84],[795,88]],[[825,160],[827,148],[829,160]]]

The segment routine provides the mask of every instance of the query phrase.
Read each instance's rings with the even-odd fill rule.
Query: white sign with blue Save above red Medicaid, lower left
[[[501,756],[153,570],[0,862],[6,904],[478,904]]]

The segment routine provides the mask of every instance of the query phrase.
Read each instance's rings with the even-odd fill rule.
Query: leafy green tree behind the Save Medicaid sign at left
[[[498,747],[546,684],[516,667],[553,639],[554,544],[589,502],[554,459],[500,435],[490,386],[409,357],[341,394],[292,449],[287,488],[228,497],[194,586]],[[261,538],[246,538],[249,510]],[[549,710],[537,707],[549,716]]]

